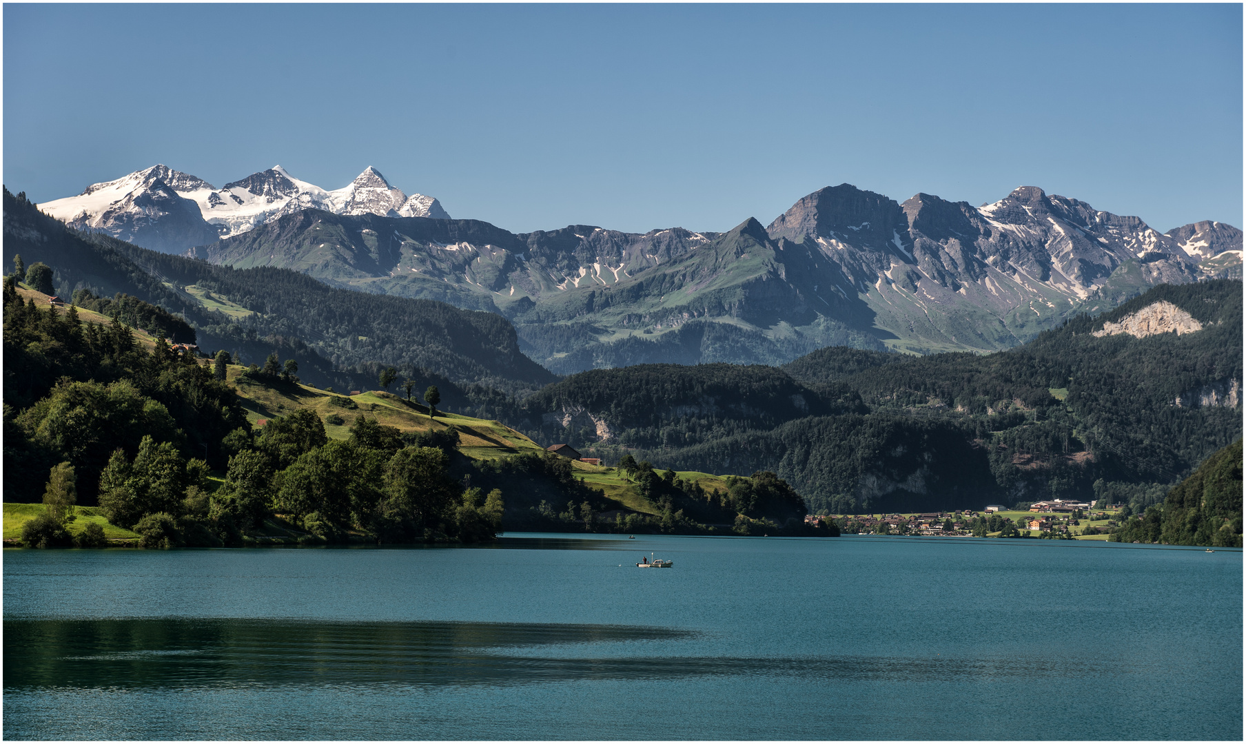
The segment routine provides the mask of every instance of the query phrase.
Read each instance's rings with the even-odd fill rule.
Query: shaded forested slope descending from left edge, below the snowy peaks
[[[86,289],[106,302],[123,293],[159,305],[189,322],[206,349],[254,364],[270,353],[295,358],[305,379],[344,389],[375,385],[378,373],[394,366],[421,390],[441,386],[447,405],[481,413],[556,379],[520,351],[515,329],[492,313],[146,250],[66,228],[7,189],[4,199],[6,265],[19,254],[51,265],[66,299]]]

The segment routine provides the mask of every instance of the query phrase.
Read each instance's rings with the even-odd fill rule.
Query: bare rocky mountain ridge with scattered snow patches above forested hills
[[[972,207],[926,193],[898,203],[841,184],[802,197],[769,227],[749,218],[725,233],[511,233],[478,221],[309,211],[194,254],[498,312],[526,353],[572,373],[776,364],[831,344],[1011,348],[1159,283],[1240,273],[1241,231],[1204,222],[1161,234],[1037,187]]]

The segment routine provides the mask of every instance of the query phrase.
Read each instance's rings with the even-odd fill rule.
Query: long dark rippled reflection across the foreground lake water
[[[1042,661],[644,656],[627,646],[698,636],[638,626],[553,623],[189,621],[4,623],[4,687],[516,684],[578,679],[807,675],[839,680],[1068,675]],[[611,656],[542,656],[541,647],[613,643]],[[618,646],[623,644],[623,646]],[[619,649],[624,654],[619,654]],[[516,653],[516,652],[522,652]],[[536,653],[533,653],[536,652]],[[1119,673],[1119,670],[1118,670]]]

